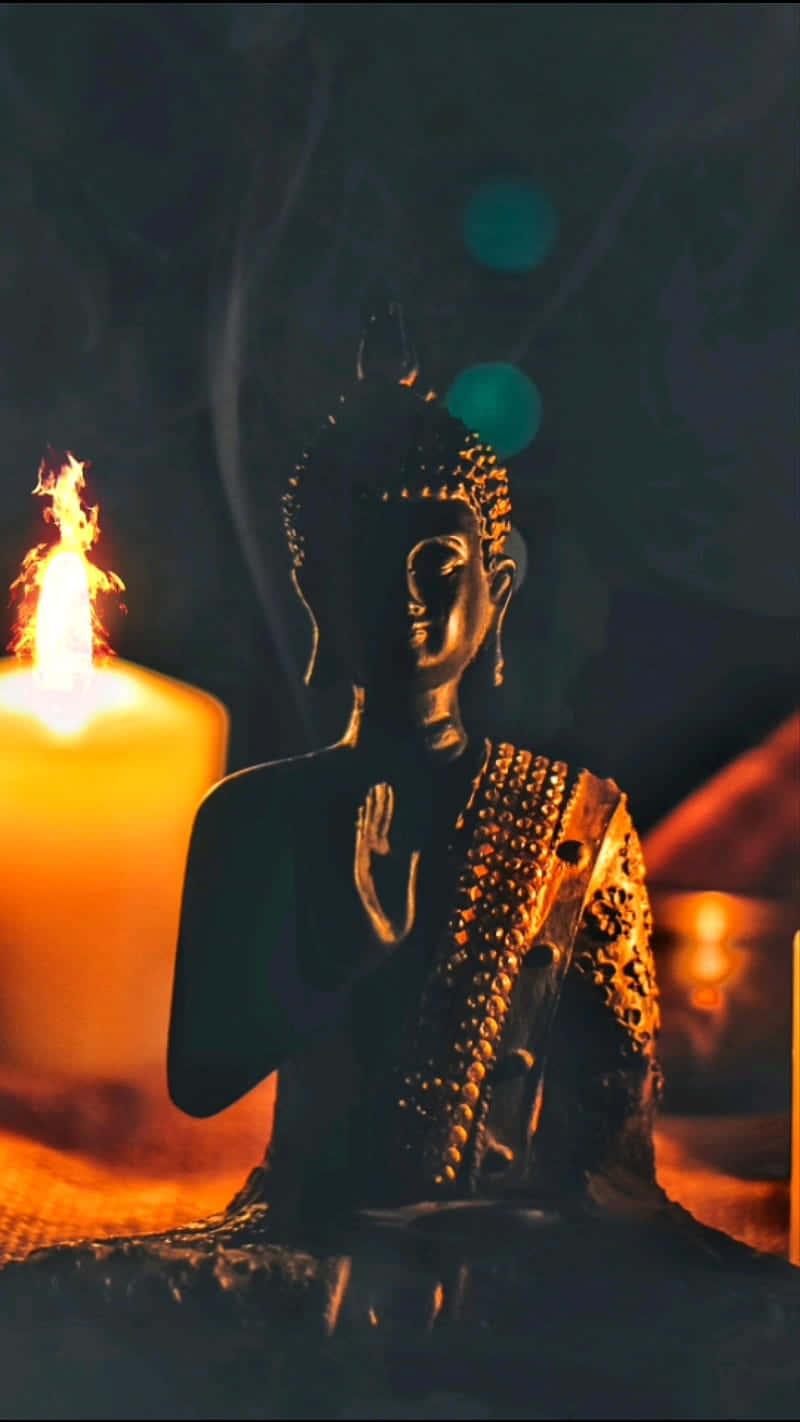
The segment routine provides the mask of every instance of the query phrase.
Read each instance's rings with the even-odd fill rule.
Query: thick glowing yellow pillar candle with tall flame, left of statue
[[[180,890],[227,712],[108,660],[84,466],[43,462],[60,540],[33,549],[0,663],[0,1068],[146,1085],[163,1072]]]

